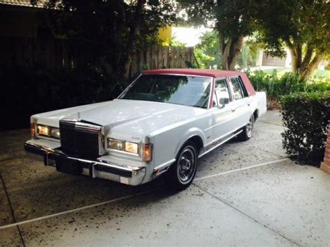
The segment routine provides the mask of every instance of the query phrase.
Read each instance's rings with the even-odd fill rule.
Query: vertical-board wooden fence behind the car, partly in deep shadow
[[[96,58],[70,49],[67,40],[38,40],[36,38],[0,37],[0,66],[27,67],[42,65],[49,70],[72,69],[82,64],[93,64]],[[130,74],[142,69],[188,67],[194,62],[194,47],[162,47],[151,45],[132,58]]]

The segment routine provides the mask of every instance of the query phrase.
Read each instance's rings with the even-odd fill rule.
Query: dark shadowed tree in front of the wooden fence
[[[41,0],[31,0],[32,2]],[[175,21],[172,0],[47,0],[47,24],[104,67],[127,79],[132,54]]]

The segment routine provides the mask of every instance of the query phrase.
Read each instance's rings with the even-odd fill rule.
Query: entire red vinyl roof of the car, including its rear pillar
[[[189,74],[202,77],[241,77],[249,96],[256,95],[256,90],[254,90],[251,81],[243,72],[229,71],[229,70],[201,70],[201,69],[162,69],[162,70],[145,70],[142,74]]]

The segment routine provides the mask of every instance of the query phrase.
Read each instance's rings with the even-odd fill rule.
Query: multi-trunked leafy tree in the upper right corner
[[[308,78],[330,54],[330,3],[327,0],[262,1],[260,40],[267,54],[292,57],[292,72]]]

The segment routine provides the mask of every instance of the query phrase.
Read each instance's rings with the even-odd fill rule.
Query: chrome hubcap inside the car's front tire
[[[194,151],[190,147],[184,148],[178,159],[178,178],[183,184],[190,182],[192,175],[194,175],[195,165]]]

